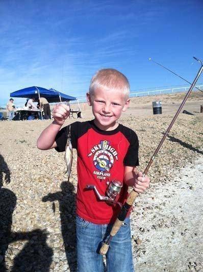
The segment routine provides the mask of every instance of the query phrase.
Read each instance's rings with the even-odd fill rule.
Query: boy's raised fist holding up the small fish
[[[52,114],[55,122],[62,126],[70,114],[70,108],[65,104],[58,104],[54,106]]]

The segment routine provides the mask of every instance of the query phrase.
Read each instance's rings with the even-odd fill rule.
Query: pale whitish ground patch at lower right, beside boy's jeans
[[[203,271],[202,165],[201,155],[137,200],[143,212],[132,224],[136,271]]]

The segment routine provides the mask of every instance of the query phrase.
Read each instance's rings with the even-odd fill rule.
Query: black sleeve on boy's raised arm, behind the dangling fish
[[[62,128],[56,138],[55,141],[57,143],[57,147],[55,148],[56,151],[58,152],[63,152],[65,151],[66,147],[66,142],[68,138],[68,131],[70,129],[70,139],[71,139],[71,144],[74,149],[77,149],[77,140],[78,140],[78,123],[79,122],[74,122],[71,123],[70,125]]]

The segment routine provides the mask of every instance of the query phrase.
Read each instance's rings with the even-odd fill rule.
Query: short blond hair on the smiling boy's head
[[[129,98],[130,84],[128,79],[118,70],[107,68],[98,70],[92,77],[89,87],[90,95],[93,95],[95,89],[118,90]]]

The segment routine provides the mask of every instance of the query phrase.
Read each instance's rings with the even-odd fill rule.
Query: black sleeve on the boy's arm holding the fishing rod
[[[125,166],[138,166],[139,141],[137,134],[133,130],[129,130],[127,139],[129,140],[130,145],[123,163]]]

